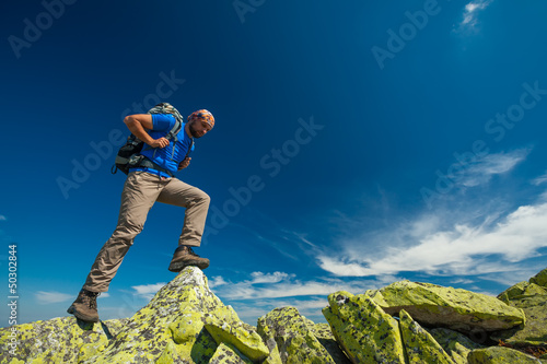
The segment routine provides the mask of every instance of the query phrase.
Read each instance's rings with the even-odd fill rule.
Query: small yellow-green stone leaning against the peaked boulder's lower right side
[[[209,317],[205,327],[218,344],[230,343],[252,361],[263,361],[269,355],[269,350],[260,336],[254,330],[247,330],[238,322],[231,325]]]

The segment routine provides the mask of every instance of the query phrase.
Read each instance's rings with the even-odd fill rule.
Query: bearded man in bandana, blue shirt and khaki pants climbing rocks
[[[124,256],[142,231],[155,201],[186,208],[178,248],[168,270],[178,272],[188,266],[209,267],[209,259],[199,257],[191,249],[201,243],[209,196],[173,177],[173,174],[188,166],[191,160],[188,152],[194,149],[194,139],[208,133],[214,126],[214,118],[205,109],[193,113],[176,138],[170,141],[165,136],[175,126],[175,116],[182,117],[170,104],[159,104],[154,109],[156,113],[173,114],[138,114],[124,119],[128,129],[146,143],[140,153],[146,156],[146,163],[129,169],[116,230],[100,250],[78,298],[67,310],[83,321],[98,322],[96,297],[101,292],[108,291]]]

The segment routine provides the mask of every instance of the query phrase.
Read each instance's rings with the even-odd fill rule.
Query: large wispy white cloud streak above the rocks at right
[[[341,255],[323,254],[317,259],[323,269],[340,277],[401,271],[441,275],[508,272],[519,270],[519,261],[535,257],[539,248],[547,247],[545,221],[547,203],[542,202],[520,207],[493,225],[466,223],[449,230],[422,230],[423,235],[410,237],[404,244],[388,245],[380,253],[363,254],[350,247]],[[401,227],[393,232],[394,240],[399,240],[408,231]],[[492,256],[497,258],[490,259]]]

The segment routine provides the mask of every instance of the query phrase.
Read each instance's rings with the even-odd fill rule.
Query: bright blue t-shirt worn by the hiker
[[[171,114],[152,114],[152,130],[149,130],[148,133],[153,139],[160,139],[165,137],[167,132],[173,129],[175,126],[175,117]],[[158,164],[160,167],[171,171],[172,173],[177,172],[178,163],[181,163],[186,153],[188,152],[188,148],[191,144],[191,139],[188,137],[186,131],[184,130],[185,124],[181,128],[181,131],[177,133],[177,142],[173,140],[170,141],[170,144],[165,148],[155,148],[152,149],[150,145],[144,144],[142,148],[142,152],[140,154],[148,157],[150,161]],[[194,144],[191,144],[191,151],[194,151]],[[133,171],[144,171],[154,175],[159,175],[161,177],[170,177],[164,172],[160,172],[152,168],[147,167],[137,167],[130,168],[129,172]]]

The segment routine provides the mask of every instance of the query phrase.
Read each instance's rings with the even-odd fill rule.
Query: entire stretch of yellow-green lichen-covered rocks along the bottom
[[[328,325],[281,307],[253,327],[186,268],[131,318],[0,329],[0,363],[537,364],[547,363],[546,305],[544,269],[498,297],[400,281],[330,294]]]

